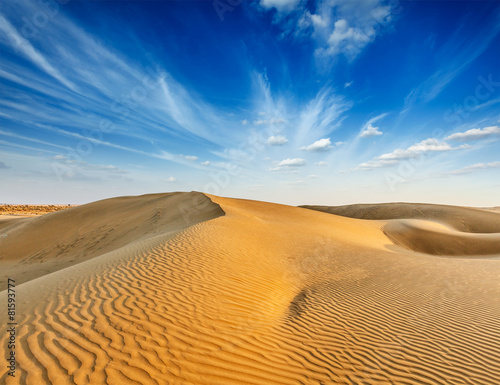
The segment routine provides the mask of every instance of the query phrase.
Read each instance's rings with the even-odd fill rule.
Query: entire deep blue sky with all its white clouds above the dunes
[[[500,205],[498,1],[0,5],[0,201]]]

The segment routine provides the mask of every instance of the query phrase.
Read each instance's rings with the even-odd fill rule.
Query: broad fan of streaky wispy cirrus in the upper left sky
[[[232,130],[236,117],[222,114],[153,60],[137,65],[63,8],[37,34],[23,36],[21,15],[30,18],[44,11],[41,3],[20,0],[0,15],[0,46],[9,53],[0,68],[0,124],[10,132],[27,132],[36,125],[53,138],[10,134],[17,144],[30,140],[40,150],[74,149],[80,141],[90,141],[165,159],[158,147],[175,148],[179,140],[217,147],[238,135]],[[20,97],[19,90],[30,97]],[[99,134],[103,121],[113,126]],[[166,135],[174,139],[166,141]]]

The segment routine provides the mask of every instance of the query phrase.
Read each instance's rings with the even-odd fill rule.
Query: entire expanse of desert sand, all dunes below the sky
[[[500,214],[372,206],[153,194],[0,227],[0,383],[498,385]]]

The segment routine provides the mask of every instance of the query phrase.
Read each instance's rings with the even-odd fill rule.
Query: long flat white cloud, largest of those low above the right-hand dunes
[[[387,167],[398,164],[402,160],[414,159],[429,152],[446,152],[468,148],[468,145],[452,147],[446,142],[429,138],[416,143],[407,149],[396,149],[393,152],[380,155],[379,157],[365,163],[361,163],[356,169],[369,170],[373,168]]]

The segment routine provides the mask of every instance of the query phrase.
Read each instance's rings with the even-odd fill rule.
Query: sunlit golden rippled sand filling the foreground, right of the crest
[[[18,370],[0,383],[500,383],[498,260],[398,254],[345,241],[345,218],[218,203],[226,216],[19,286]]]

